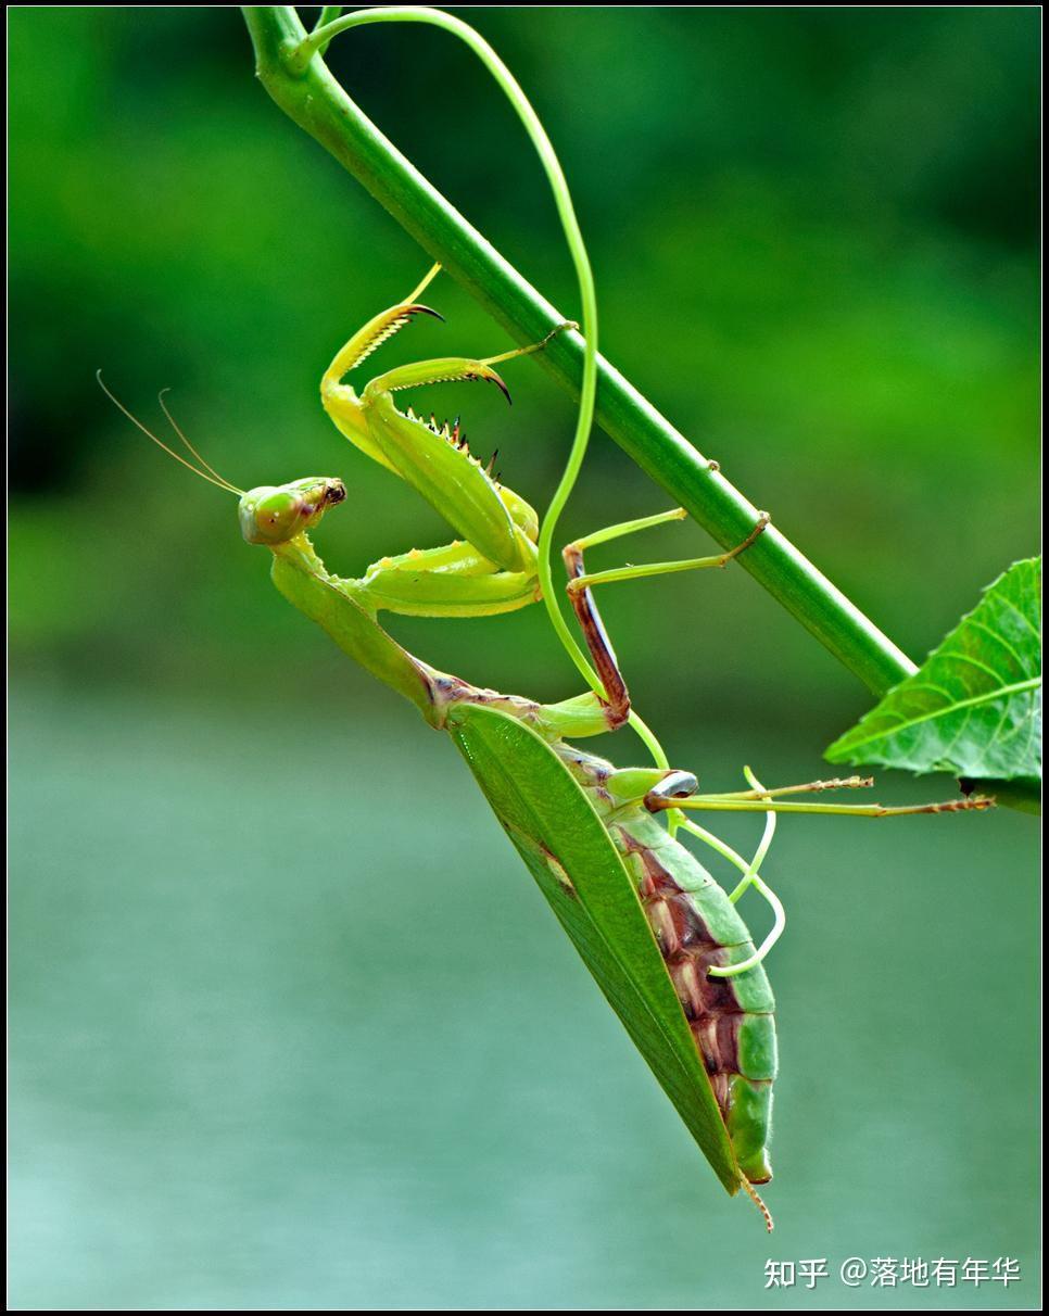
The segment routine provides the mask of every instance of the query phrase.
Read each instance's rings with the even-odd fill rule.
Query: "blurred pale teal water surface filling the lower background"
[[[1037,1305],[1031,820],[782,824],[769,1240],[451,745],[380,711],[16,699],[16,1309]],[[763,1290],[854,1254],[1024,1280]]]

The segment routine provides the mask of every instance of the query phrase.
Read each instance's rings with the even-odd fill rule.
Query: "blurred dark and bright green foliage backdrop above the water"
[[[1033,542],[1031,12],[553,9],[523,22],[511,9],[486,11],[483,25],[563,157],[607,354],[920,659]],[[324,547],[346,574],[445,534],[340,441],[316,399],[342,338],[425,259],[283,121],[249,59],[232,9],[12,16],[24,546],[12,638],[29,661],[147,682],[178,666],[180,682],[192,651],[241,682],[261,634],[279,633],[301,662],[316,655],[259,588],[230,509],[146,449],[100,395],[99,367],[150,424],[171,386],[184,426],[234,483],[345,475],[353,501]],[[469,53],[384,28],[341,38],[330,59],[424,172],[573,312],[538,167]],[[449,325],[413,328],[388,361],[504,346],[448,282],[433,300]],[[504,479],[541,505],[571,411],[532,363],[511,376],[513,412],[469,387],[421,403],[461,411],[476,450],[499,447]],[[596,436],[566,533],[663,503]],[[667,533],[630,551],[700,542]],[[661,690],[678,707],[699,678],[717,682],[717,709],[737,716],[759,687],[761,717],[792,720],[784,694],[804,715],[829,680],[834,713],[852,712],[849,678],[734,576],[609,601],[638,688],[661,678],[646,707]],[[482,632],[405,634],[454,667]],[[546,694],[570,679],[538,617],[486,622],[483,637],[491,669],[476,679]],[[778,686],[763,679],[770,640]]]

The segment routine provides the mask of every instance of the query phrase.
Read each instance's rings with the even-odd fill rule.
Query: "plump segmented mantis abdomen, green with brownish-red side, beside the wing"
[[[641,801],[619,803],[609,763],[567,745],[561,754],[634,880],[740,1170],[750,1183],[767,1183],[775,1000],[761,965],[733,978],[709,976],[712,967],[754,954],[750,933],[725,891]]]

